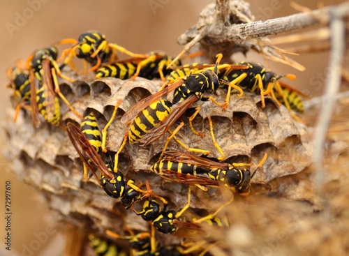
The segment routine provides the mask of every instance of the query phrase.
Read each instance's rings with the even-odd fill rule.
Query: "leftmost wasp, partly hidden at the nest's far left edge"
[[[14,90],[13,96],[18,103],[14,118],[16,121],[20,109],[29,109],[31,105],[29,70],[25,66],[25,61],[16,61],[15,66],[6,70],[6,76],[10,81],[7,87]]]

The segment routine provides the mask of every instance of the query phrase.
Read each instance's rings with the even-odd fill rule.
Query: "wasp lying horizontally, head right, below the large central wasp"
[[[226,186],[235,188],[240,195],[249,195],[251,179],[265,160],[267,153],[251,175],[250,170],[238,168],[249,165],[246,163],[221,163],[188,152],[165,151],[164,158],[154,163],[150,169],[170,181],[208,186],[219,186],[223,182]],[[207,174],[208,178],[203,174]]]

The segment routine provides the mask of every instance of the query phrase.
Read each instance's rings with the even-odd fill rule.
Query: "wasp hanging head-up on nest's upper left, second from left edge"
[[[70,105],[59,89],[57,75],[65,80],[70,80],[70,78],[61,73],[56,61],[57,54],[57,48],[51,45],[36,50],[27,59],[31,91],[31,113],[36,127],[40,124],[38,113],[42,114],[47,122],[54,125],[59,124],[60,110],[57,95],[64,100],[64,103],[74,114],[81,118],[80,114]]]

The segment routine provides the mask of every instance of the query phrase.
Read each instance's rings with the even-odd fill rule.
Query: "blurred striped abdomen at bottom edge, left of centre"
[[[96,255],[103,256],[127,256],[128,253],[126,253],[124,250],[121,250],[117,248],[117,246],[114,243],[111,243],[110,241],[106,241],[104,239],[101,239],[94,234],[89,234],[89,246],[94,250]]]

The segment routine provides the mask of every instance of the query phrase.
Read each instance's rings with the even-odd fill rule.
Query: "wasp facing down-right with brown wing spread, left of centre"
[[[108,153],[105,154],[103,160],[94,146],[91,146],[86,135],[84,135],[80,128],[75,126],[75,124],[67,123],[66,130],[70,141],[82,160],[82,163],[87,166],[97,181],[100,181],[101,186],[107,195],[114,198],[121,197],[121,203],[124,204],[126,209],[128,209],[134,202],[143,199],[144,197],[148,197],[152,193],[150,189],[142,190],[135,186],[135,181],[132,179],[125,181],[123,174],[117,170],[117,165],[115,165],[115,162],[117,161],[112,160],[112,156]],[[96,174],[97,170],[101,172],[99,178]],[[149,187],[148,183],[147,187]],[[163,202],[167,202],[162,197],[158,198],[163,200]]]

